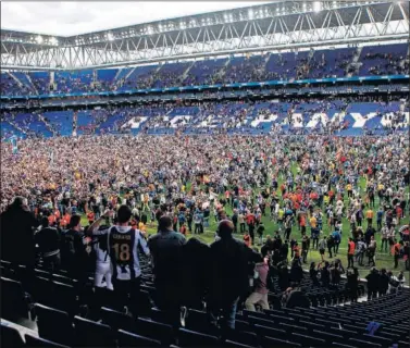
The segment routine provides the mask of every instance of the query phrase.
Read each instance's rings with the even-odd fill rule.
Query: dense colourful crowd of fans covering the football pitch
[[[215,263],[210,268],[214,272],[211,283],[219,284],[210,291],[216,297],[222,289],[232,291],[221,293],[226,295],[224,308],[229,304],[233,310],[249,276],[246,266],[239,266],[241,271],[231,266],[234,260],[257,262],[262,279],[272,269],[279,287],[274,290],[286,293],[288,286],[300,283],[301,265],[309,262],[310,250],[319,250],[322,258],[310,266],[312,284],[337,286],[346,272],[347,289],[355,300],[357,266],[366,261],[365,265],[375,268],[376,253],[389,257],[392,268],[409,269],[409,226],[402,223],[410,207],[405,190],[409,184],[408,148],[405,135],[349,139],[223,135],[34,138],[20,141],[18,153],[4,144],[2,258],[33,263],[37,243],[45,264],[59,268],[62,262],[77,277],[97,270],[96,286],[112,287],[110,273],[104,274],[105,283],[103,276],[97,276],[101,268],[95,262],[103,260],[97,257],[90,269],[84,266],[96,245],[91,234],[97,231],[97,220],[101,224],[115,211],[117,223],[129,223],[141,235],[158,221],[160,234],[179,240],[178,246],[170,246],[175,250],[185,245],[187,235],[202,234],[214,220],[220,228],[210,249],[196,239],[187,245],[199,244],[200,250],[210,250],[211,264]],[[360,186],[363,178],[364,188]],[[15,195],[24,198],[9,207]],[[91,225],[89,236],[83,232],[80,214]],[[266,220],[275,222],[275,231],[268,231]],[[40,224],[36,234],[29,233]],[[338,247],[346,233],[349,243],[341,251]],[[232,239],[233,234],[239,234],[244,243]],[[376,244],[376,235],[382,245]],[[74,245],[67,246],[67,238]],[[226,253],[226,243],[236,250],[234,256]],[[17,253],[12,248],[16,244],[22,246]],[[260,253],[252,249],[256,246],[261,247]],[[153,257],[161,259],[158,253]],[[345,258],[347,271],[340,261]],[[165,269],[175,276],[181,271]],[[237,283],[227,284],[223,275],[233,270]],[[395,290],[403,283],[403,274],[372,270],[368,281],[371,298],[377,291]],[[245,299],[248,309],[254,309],[254,303],[269,306],[266,286],[258,286],[257,295]],[[201,297],[203,290],[196,295]],[[171,293],[176,296],[177,290]]]

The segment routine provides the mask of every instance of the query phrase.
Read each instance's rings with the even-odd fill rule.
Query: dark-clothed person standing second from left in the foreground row
[[[60,233],[49,226],[48,217],[41,219],[41,229],[36,233],[35,240],[41,252],[46,268],[57,270],[60,266]]]

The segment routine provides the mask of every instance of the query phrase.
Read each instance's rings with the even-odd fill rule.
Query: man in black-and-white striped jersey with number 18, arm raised
[[[138,248],[147,256],[149,256],[149,249],[142,233],[129,226],[132,211],[127,206],[120,207],[116,213],[116,225],[98,231],[103,220],[112,214],[112,211],[105,212],[89,226],[88,231],[95,236],[107,235],[115,299],[117,304],[123,307],[127,304],[129,298],[134,307],[138,300],[141,275]]]

